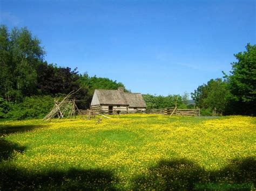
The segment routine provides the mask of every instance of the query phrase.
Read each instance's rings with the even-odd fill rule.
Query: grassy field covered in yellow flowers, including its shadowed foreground
[[[256,118],[0,122],[0,190],[255,189]]]

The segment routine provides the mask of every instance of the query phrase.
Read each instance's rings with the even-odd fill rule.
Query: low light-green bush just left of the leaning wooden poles
[[[54,99],[51,96],[26,97],[22,103],[13,105],[7,117],[17,120],[43,118],[51,111]]]

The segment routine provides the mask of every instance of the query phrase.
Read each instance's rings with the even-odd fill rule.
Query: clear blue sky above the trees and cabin
[[[0,23],[26,26],[45,60],[143,94],[191,93],[255,44],[255,1],[0,0]]]

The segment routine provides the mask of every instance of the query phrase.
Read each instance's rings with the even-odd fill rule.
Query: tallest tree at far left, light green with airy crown
[[[41,42],[26,27],[14,28],[9,33],[0,27],[0,95],[8,101],[21,101],[22,97],[35,94],[36,65],[45,54]]]

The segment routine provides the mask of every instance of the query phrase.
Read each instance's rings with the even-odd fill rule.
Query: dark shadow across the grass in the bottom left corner
[[[115,190],[117,183],[111,171],[102,169],[35,173],[5,166],[0,176],[0,190]]]

